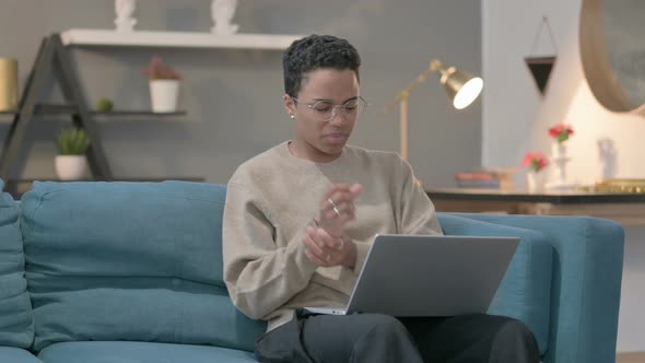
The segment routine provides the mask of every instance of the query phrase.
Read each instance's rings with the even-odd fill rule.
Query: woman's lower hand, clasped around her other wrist
[[[356,264],[356,245],[347,236],[332,237],[321,227],[308,226],[303,244],[305,255],[317,266],[353,268]]]

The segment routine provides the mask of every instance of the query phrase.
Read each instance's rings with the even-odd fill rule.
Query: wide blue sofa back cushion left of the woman
[[[22,232],[35,349],[83,340],[253,350],[266,328],[222,281],[225,187],[35,183]]]

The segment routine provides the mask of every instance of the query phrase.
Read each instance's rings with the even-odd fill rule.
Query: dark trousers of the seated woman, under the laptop
[[[313,315],[262,336],[260,362],[538,363],[537,342],[520,321],[484,314],[394,318]]]

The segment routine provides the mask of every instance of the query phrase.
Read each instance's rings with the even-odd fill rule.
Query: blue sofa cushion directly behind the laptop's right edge
[[[549,348],[553,247],[537,231],[438,214],[448,235],[516,236],[520,238],[508,270],[493,297],[490,314],[521,320],[531,330],[540,352]]]

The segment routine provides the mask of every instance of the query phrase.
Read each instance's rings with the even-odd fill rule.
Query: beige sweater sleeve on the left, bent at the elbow
[[[304,254],[303,231],[277,247],[275,229],[261,200],[230,183],[223,220],[224,281],[235,306],[259,319],[304,290],[316,265]]]

